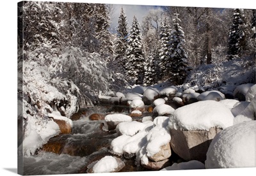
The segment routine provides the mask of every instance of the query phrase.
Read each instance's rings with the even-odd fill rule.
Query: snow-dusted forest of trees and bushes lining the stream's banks
[[[33,156],[56,136],[52,118],[69,122],[109,92],[255,84],[255,17],[250,9],[159,6],[128,22],[125,8],[113,4],[18,3],[20,154]],[[224,78],[230,62],[249,76],[232,70],[237,82]]]

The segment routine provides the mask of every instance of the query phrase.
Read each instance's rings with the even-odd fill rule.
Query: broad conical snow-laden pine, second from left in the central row
[[[143,84],[145,59],[140,26],[135,15],[128,38],[128,49],[126,55],[127,61],[125,68],[127,70],[127,76],[134,80],[135,84]]]

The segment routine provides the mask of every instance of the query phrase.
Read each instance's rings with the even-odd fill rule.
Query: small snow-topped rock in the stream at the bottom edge
[[[109,173],[118,172],[124,168],[125,163],[119,158],[105,156],[99,161],[95,161],[88,166],[88,173]]]

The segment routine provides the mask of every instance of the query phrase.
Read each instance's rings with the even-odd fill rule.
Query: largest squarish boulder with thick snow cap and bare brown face
[[[212,138],[233,125],[234,116],[218,101],[198,101],[178,108],[170,116],[171,147],[186,161],[205,160]]]

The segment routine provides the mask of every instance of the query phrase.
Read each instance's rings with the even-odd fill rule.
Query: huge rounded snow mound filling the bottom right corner
[[[212,140],[205,168],[244,168],[256,166],[256,121],[223,129]]]

